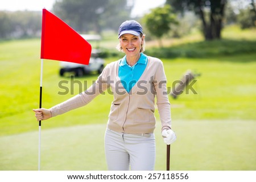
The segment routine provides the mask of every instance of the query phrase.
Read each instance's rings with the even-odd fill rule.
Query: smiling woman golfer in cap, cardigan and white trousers
[[[88,104],[111,87],[114,100],[105,132],[108,170],[154,170],[155,98],[164,142],[170,145],[176,140],[163,63],[143,54],[144,38],[138,22],[123,22],[118,32],[118,49],[125,53],[121,60],[106,65],[97,81],[81,94],[50,109],[34,109],[38,121],[47,120]]]

